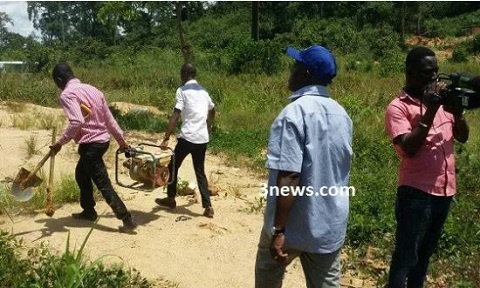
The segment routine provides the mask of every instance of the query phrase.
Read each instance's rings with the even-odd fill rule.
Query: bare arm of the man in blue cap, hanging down
[[[290,193],[288,195],[278,195],[277,205],[275,209],[275,218],[273,225],[276,231],[284,231],[285,224],[287,223],[288,214],[292,208],[295,196],[291,193],[292,189],[295,189],[300,183],[300,174],[296,172],[280,171],[277,178],[277,186],[279,191],[282,191],[282,187],[289,187]],[[282,193],[280,193],[282,194]],[[288,254],[283,252],[283,246],[285,245],[285,235],[283,232],[277,234],[274,233],[272,237],[272,243],[270,245],[270,253],[273,258],[278,262],[287,261]]]

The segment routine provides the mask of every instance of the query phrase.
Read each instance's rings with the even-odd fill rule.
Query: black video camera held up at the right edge
[[[447,89],[434,93],[429,101],[445,106],[471,110],[480,108],[480,77],[466,73],[439,74],[435,82],[443,81]]]

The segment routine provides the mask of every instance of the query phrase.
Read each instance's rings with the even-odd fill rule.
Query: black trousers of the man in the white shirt
[[[170,177],[173,175],[172,184],[167,187],[168,197],[175,197],[177,195],[178,169],[183,163],[188,154],[192,154],[193,168],[195,169],[195,176],[197,177],[198,189],[202,196],[202,206],[207,208],[212,206],[210,203],[210,191],[208,191],[207,177],[205,176],[205,153],[207,152],[207,143],[194,144],[188,142],[183,138],[178,138],[175,146],[175,173],[172,173],[172,163],[168,165],[170,169]]]

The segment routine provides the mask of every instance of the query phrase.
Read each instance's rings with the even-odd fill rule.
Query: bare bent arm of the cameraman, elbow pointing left
[[[430,105],[423,115],[418,125],[413,128],[412,132],[402,134],[393,139],[393,143],[400,146],[402,151],[408,156],[413,157],[420,150],[427,139],[428,131],[432,127],[435,114],[440,108],[440,105]]]

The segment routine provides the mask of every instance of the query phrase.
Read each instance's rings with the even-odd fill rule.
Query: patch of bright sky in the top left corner
[[[35,32],[36,36],[40,36],[40,32],[36,31],[33,23],[28,20],[27,1],[0,1],[0,11],[7,13],[13,21],[13,26],[7,24],[8,31],[22,36]]]

